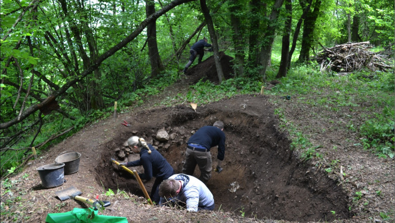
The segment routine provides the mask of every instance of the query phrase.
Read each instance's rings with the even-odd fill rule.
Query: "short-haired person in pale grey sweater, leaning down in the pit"
[[[175,174],[159,186],[160,204],[186,205],[188,211],[214,210],[214,196],[202,181],[186,174]]]

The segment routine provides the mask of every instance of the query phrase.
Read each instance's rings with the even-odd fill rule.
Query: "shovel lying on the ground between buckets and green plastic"
[[[81,201],[87,204],[90,204],[94,207],[95,210],[103,210],[105,207],[108,207],[111,205],[111,203],[109,201],[99,201],[99,200],[91,200],[88,198],[84,198],[81,197],[80,195],[82,194],[81,191],[78,191],[78,189],[74,188],[74,186],[71,186],[67,189],[64,189],[62,191],[57,191],[55,192],[56,196],[58,196],[58,198],[61,201],[65,201],[67,199],[74,199],[77,201]]]

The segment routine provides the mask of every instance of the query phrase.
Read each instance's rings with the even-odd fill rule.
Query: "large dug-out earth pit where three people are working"
[[[348,197],[338,182],[322,169],[301,162],[290,149],[291,141],[279,132],[267,98],[250,95],[224,99],[196,109],[188,105],[156,108],[128,117],[131,127],[104,144],[101,161],[95,168],[96,179],[105,188],[144,197],[134,177],[109,159],[129,161],[122,145],[130,136],[146,139],[181,173],[186,142],[192,131],[221,120],[225,124],[225,159],[221,173],[212,173],[207,186],[214,195],[215,211],[223,210],[258,219],[288,221],[332,221],[347,219]],[[168,141],[158,141],[156,133],[164,129]],[[213,165],[217,148],[211,149]],[[129,157],[129,158],[128,158]],[[214,167],[214,166],[213,166]],[[142,172],[142,167],[130,168]],[[199,177],[196,167],[193,174]],[[148,193],[154,179],[144,182]]]

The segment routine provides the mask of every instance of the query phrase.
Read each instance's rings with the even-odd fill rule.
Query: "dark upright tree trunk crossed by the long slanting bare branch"
[[[155,13],[155,3],[153,0],[145,1],[145,12],[147,18]],[[148,55],[151,62],[151,77],[156,77],[164,70],[159,50],[156,43],[156,20],[147,25]]]

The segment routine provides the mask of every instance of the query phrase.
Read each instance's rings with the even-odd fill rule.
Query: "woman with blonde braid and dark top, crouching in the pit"
[[[152,185],[150,198],[152,202],[159,204],[159,185],[161,182],[173,175],[173,167],[151,144],[147,144],[143,138],[137,136],[130,137],[125,143],[133,152],[140,153],[140,160],[120,163],[126,167],[143,166],[144,173],[139,173],[141,179],[150,180],[155,177]]]

